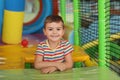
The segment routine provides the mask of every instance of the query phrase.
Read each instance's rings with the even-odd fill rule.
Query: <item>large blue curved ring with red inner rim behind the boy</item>
[[[44,19],[46,16],[52,14],[52,0],[38,0],[39,1],[39,11],[36,17],[23,27],[23,34],[31,34],[36,31],[42,30],[44,26]]]

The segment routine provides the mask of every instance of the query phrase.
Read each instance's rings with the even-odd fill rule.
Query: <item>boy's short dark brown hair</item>
[[[62,22],[63,23],[63,28],[64,28],[64,21],[61,16],[59,15],[49,15],[46,17],[45,22],[44,22],[44,28],[47,23],[52,23],[52,22]]]

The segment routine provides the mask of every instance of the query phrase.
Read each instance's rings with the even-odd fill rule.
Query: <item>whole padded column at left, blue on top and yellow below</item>
[[[18,44],[21,42],[22,26],[24,19],[24,6],[24,0],[6,0],[2,29],[3,42],[8,44]]]

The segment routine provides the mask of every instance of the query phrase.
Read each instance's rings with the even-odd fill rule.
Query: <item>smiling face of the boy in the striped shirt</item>
[[[63,23],[62,22],[47,23],[43,31],[49,41],[52,42],[60,41],[60,39],[64,35]]]

